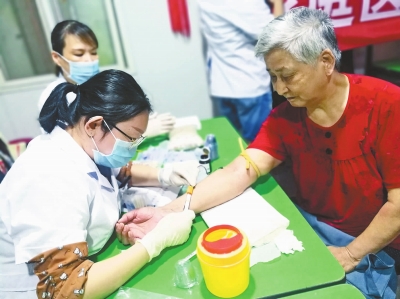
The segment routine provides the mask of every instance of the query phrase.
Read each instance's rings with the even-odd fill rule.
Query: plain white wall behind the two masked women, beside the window
[[[172,33],[166,0],[116,1],[119,23],[132,55],[132,74],[156,111],[181,117],[212,117],[196,1],[188,0],[191,36]],[[50,83],[50,82],[48,82]],[[8,139],[40,133],[37,102],[46,84],[21,91],[0,90],[0,132]]]

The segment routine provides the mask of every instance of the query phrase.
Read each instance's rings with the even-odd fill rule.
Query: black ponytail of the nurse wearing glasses
[[[47,133],[50,133],[57,125],[57,122],[64,123],[66,126],[73,125],[79,101],[79,85],[68,82],[57,85],[40,111],[39,122],[41,127]]]

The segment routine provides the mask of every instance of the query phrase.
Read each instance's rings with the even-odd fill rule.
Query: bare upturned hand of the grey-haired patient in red
[[[135,244],[135,239],[142,239],[170,212],[172,211],[145,207],[124,214],[115,226],[118,240],[125,245]]]

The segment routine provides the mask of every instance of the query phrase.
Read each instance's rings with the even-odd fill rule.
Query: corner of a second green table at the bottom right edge
[[[285,299],[365,299],[364,295],[355,287],[349,284],[339,284],[327,288],[317,289],[310,292],[300,293]]]

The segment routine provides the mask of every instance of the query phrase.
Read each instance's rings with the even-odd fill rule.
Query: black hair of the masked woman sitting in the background
[[[65,37],[68,34],[78,36],[85,44],[99,47],[96,35],[87,25],[75,21],[65,20],[58,23],[51,32],[51,47],[53,51],[64,55],[63,50],[65,47]],[[56,66],[56,75],[61,72],[61,68]]]

